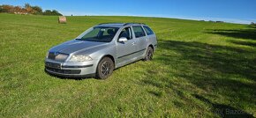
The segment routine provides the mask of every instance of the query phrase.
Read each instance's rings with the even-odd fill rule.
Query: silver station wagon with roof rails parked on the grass
[[[156,45],[154,32],[145,24],[100,24],[72,41],[50,48],[45,70],[62,77],[105,79],[125,64],[151,60]]]

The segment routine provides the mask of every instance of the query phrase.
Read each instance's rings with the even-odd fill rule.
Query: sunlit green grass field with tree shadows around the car
[[[256,27],[174,18],[0,14],[0,117],[256,116]],[[44,72],[52,46],[105,22],[143,22],[158,37],[152,62],[106,80]]]

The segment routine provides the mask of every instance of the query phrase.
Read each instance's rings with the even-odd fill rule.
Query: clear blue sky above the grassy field
[[[38,5],[66,16],[144,16],[256,22],[256,0],[1,0],[0,4]]]

